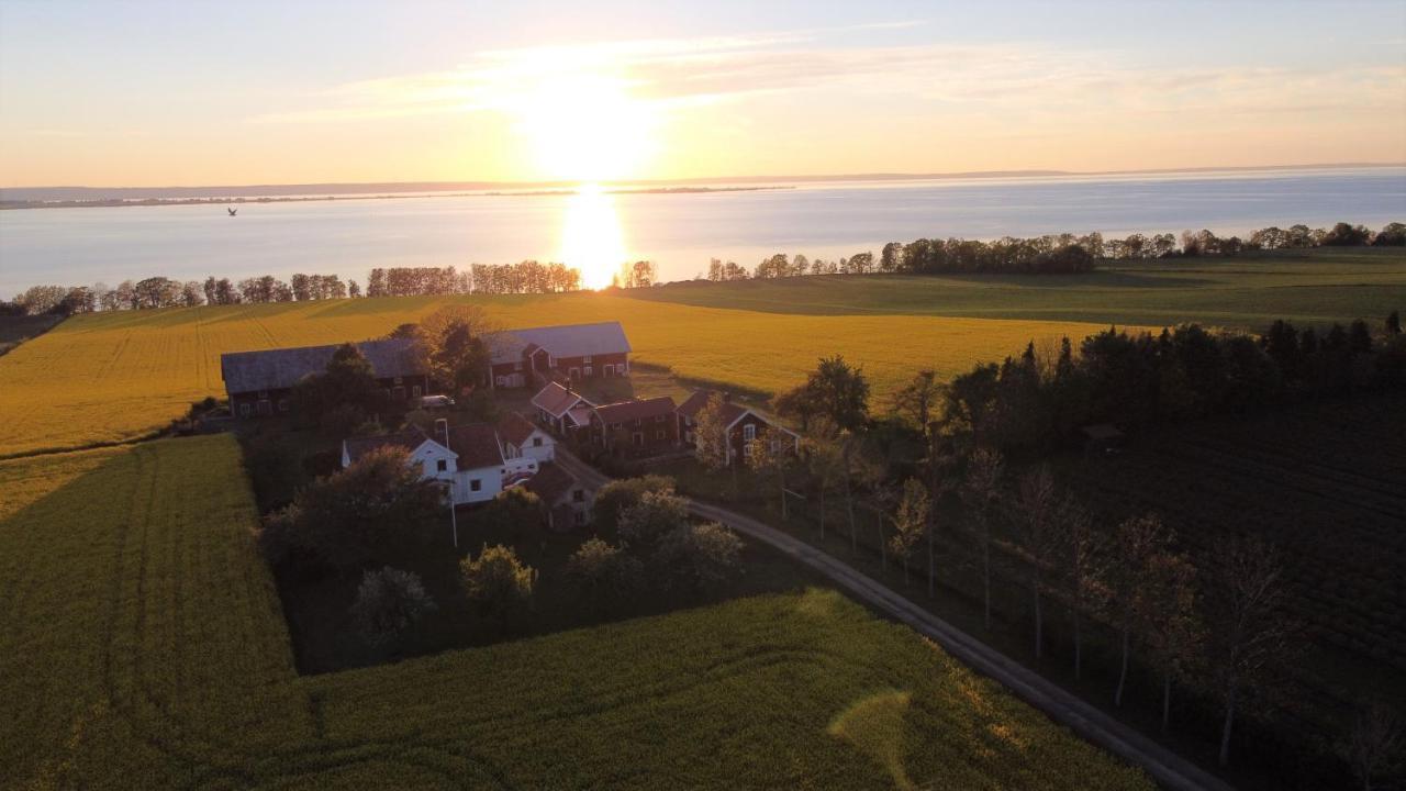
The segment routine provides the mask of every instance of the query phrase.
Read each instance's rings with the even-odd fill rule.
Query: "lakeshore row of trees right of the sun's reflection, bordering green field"
[[[1339,222],[1333,228],[1294,225],[1288,229],[1270,227],[1239,236],[1216,236],[1211,231],[1182,231],[1180,241],[1173,234],[1132,234],[1123,239],[1105,239],[1092,232],[1047,234],[1043,236],[1004,236],[991,242],[976,239],[917,239],[908,243],[889,242],[875,259],[862,252],[835,260],[789,258],[776,253],[751,272],[735,262],[713,259],[707,280],[765,280],[773,277],[803,277],[811,274],[936,274],[936,273],[1018,273],[1067,274],[1090,272],[1099,260],[1130,260],[1159,258],[1194,258],[1201,255],[1239,255],[1249,251],[1309,249],[1322,246],[1402,246],[1406,245],[1406,225],[1392,222],[1372,232],[1362,225]]]

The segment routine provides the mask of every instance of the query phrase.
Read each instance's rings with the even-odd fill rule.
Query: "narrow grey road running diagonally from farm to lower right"
[[[591,486],[600,487],[610,481],[609,476],[591,467],[560,445],[557,446],[557,463]],[[768,543],[786,556],[825,574],[825,577],[838,583],[860,601],[934,640],[972,670],[998,681],[1026,704],[1045,712],[1050,719],[1066,725],[1084,739],[1119,756],[1128,763],[1140,766],[1163,787],[1177,791],[1197,791],[1204,788],[1230,791],[1232,787],[1220,778],[1167,747],[1157,745],[1136,729],[1084,702],[1073,692],[1066,691],[1053,681],[1047,681],[1040,674],[987,646],[962,629],[932,615],[893,588],[853,569],[835,556],[770,525],[717,505],[690,500],[689,511]]]

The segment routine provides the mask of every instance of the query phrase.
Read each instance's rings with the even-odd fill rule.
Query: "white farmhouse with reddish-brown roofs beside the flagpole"
[[[382,436],[354,436],[342,442],[342,466],[377,448],[402,448],[411,463],[419,464],[422,479],[434,479],[449,487],[456,505],[492,500],[505,486],[520,481],[538,470],[530,457],[503,457],[498,429],[489,424],[449,428],[449,421],[434,421],[434,435],[420,429]]]

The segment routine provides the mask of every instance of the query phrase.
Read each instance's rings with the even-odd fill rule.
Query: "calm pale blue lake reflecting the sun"
[[[37,283],[294,272],[364,281],[371,267],[565,260],[592,286],[650,259],[664,280],[775,252],[877,255],[922,236],[1218,234],[1406,221],[1406,167],[1201,175],[824,182],[689,194],[426,196],[0,211],[0,296]]]

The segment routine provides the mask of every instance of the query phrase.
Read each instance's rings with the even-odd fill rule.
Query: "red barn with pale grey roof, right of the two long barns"
[[[494,387],[630,374],[630,341],[619,321],[509,329],[488,348]]]

